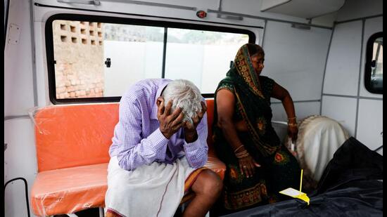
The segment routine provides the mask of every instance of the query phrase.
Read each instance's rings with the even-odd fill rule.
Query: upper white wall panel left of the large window
[[[34,106],[29,7],[29,1],[11,1],[9,5],[4,50],[4,116],[25,115]]]

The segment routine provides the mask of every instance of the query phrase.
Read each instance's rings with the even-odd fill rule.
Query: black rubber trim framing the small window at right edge
[[[369,37],[366,46],[365,53],[365,65],[364,65],[364,86],[369,91],[369,93],[383,94],[383,89],[375,90],[371,86],[371,73],[372,73],[372,52],[374,51],[374,41],[377,38],[383,38],[383,32],[376,32]]]

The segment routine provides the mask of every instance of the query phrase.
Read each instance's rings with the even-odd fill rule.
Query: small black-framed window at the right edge
[[[367,41],[364,86],[371,93],[383,93],[383,33]]]

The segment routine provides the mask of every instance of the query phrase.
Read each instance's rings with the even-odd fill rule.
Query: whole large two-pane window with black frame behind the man
[[[245,29],[108,20],[59,17],[46,25],[51,102],[118,101],[146,78],[189,79],[213,94],[238,48],[255,41]]]

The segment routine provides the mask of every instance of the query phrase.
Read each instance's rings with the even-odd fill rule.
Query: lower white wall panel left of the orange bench
[[[20,136],[22,132],[23,134]],[[27,180],[28,192],[30,192],[37,174],[37,154],[34,145],[32,121],[30,119],[4,121],[4,143],[7,144],[4,151],[4,183],[13,178],[23,177]],[[8,185],[11,185],[10,189],[8,189]],[[7,203],[14,202],[18,206],[11,204],[6,206],[6,213],[9,213],[6,216],[27,216],[25,215],[23,180],[16,180],[15,184],[10,183],[8,185],[5,201]],[[15,190],[12,185],[17,185],[18,190]],[[31,208],[30,211],[32,211]]]

